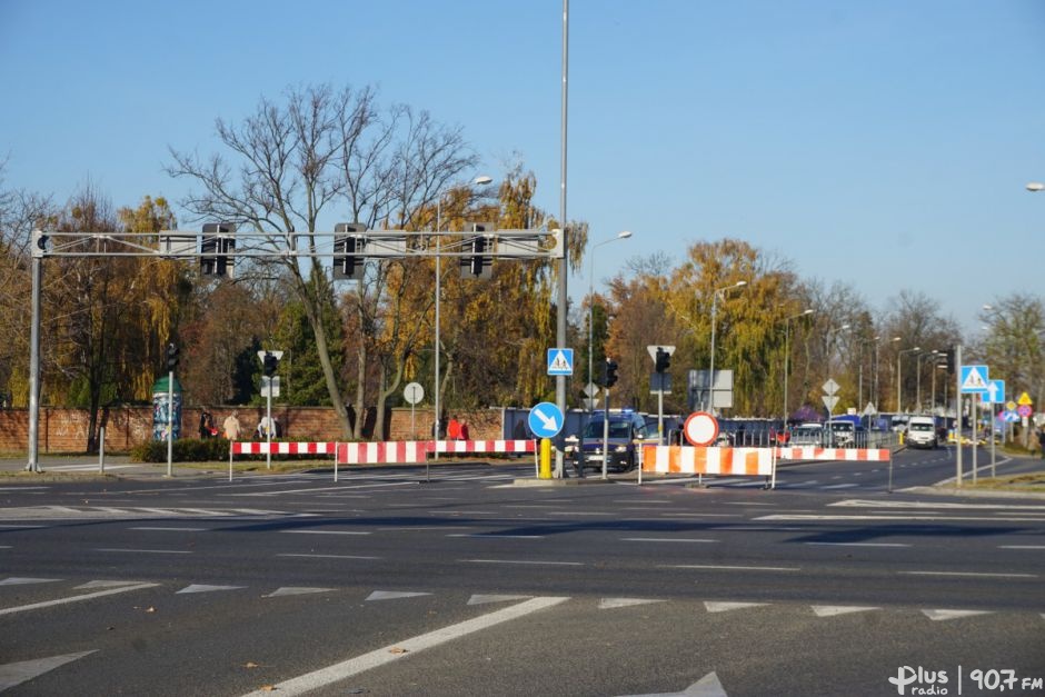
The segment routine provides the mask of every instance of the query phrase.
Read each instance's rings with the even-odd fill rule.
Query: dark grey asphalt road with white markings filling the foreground
[[[1045,694],[1045,500],[903,490],[952,451],[899,454],[893,492],[878,462],[424,475],[0,485],[0,689]]]

